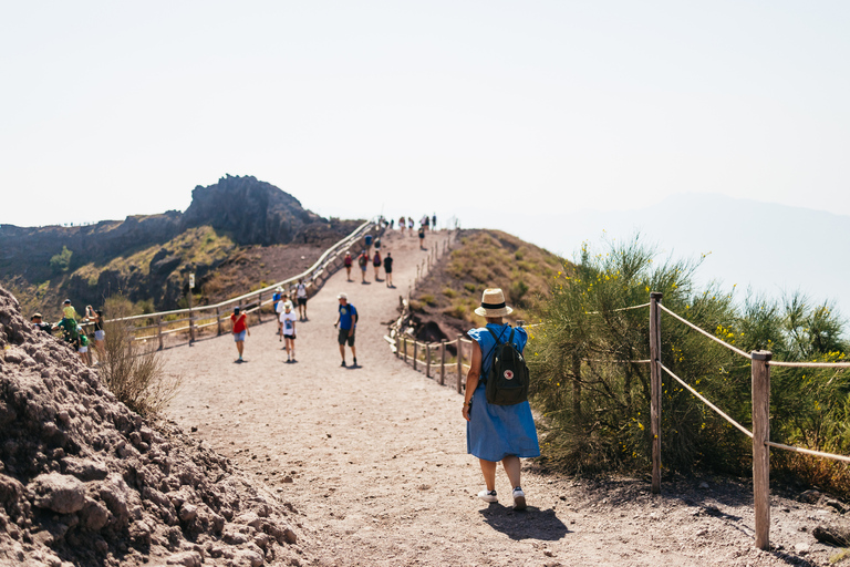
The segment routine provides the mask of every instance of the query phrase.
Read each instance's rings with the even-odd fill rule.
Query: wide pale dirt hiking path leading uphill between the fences
[[[445,239],[440,233],[439,241]],[[802,533],[822,511],[774,498],[771,553],[753,548],[751,492],[740,483],[667,483],[652,496],[633,480],[590,484],[542,476],[524,463],[529,508],[483,488],[466,453],[463,399],[397,360],[383,339],[398,297],[429,251],[388,233],[396,289],[334,275],[297,326],[297,363],[286,363],[277,326],[251,328],[247,362],[229,334],[166,351],[184,388],[169,417],[266,483],[302,517],[318,565],[823,565],[829,548]],[[426,246],[436,244],[428,235]],[[336,295],[360,313],[359,368],[341,368]],[[346,348],[346,359],[351,363]],[[781,501],[781,502],[780,502]],[[826,513],[828,514],[828,513]],[[811,523],[809,522],[809,525]]]

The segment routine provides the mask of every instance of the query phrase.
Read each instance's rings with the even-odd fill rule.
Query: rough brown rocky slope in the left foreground
[[[0,565],[296,565],[294,515],[131,412],[0,288]]]

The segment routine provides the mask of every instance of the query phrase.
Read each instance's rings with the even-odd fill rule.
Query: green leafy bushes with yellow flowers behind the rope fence
[[[842,322],[828,306],[795,295],[784,305],[750,297],[742,306],[716,286],[697,291],[698,261],[655,261],[639,239],[605,254],[582,248],[580,261],[551,280],[540,302],[542,324],[531,329],[532,402],[545,416],[543,457],[572,472],[649,468],[650,369],[647,308],[622,310],[663,292],[663,305],[744,351],[769,349],[775,360],[842,360]],[[750,427],[749,361],[662,315],[661,359],[744,426]],[[771,371],[771,439],[847,452],[850,449],[850,375],[843,371]],[[742,473],[751,444],[725,420],[662,375],[662,464],[666,470]],[[778,452],[774,452],[776,455]],[[774,460],[809,480],[799,456]],[[830,468],[830,486],[848,486]],[[843,475],[843,476],[842,476]],[[822,476],[821,476],[822,477]]]

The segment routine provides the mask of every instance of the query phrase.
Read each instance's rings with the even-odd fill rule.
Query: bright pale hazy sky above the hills
[[[225,174],[466,226],[688,192],[850,215],[850,2],[0,10],[0,223],[183,210]]]

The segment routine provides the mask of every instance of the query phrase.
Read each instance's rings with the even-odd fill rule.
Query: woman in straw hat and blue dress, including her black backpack
[[[525,509],[519,460],[539,456],[540,444],[528,404],[528,368],[522,359],[528,333],[505,322],[512,311],[501,289],[484,290],[481,306],[475,312],[487,319],[487,324],[468,332],[473,357],[463,415],[466,451],[478,457],[486,486],[478,497],[489,503],[498,501],[496,467],[501,461],[512,488],[514,508]]]

